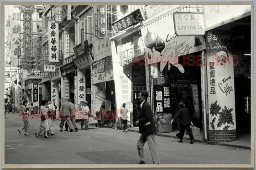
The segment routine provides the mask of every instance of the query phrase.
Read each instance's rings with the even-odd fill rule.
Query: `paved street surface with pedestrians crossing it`
[[[89,130],[60,132],[60,121],[53,121],[57,132],[50,138],[34,135],[39,120],[30,120],[28,133],[20,135],[23,126],[18,113],[5,115],[5,164],[137,164],[139,157],[136,142],[139,133],[122,132],[113,128],[98,128],[91,125]],[[79,124],[77,124],[80,127]],[[64,130],[64,129],[63,129]],[[178,139],[155,136],[161,164],[250,164],[250,150],[225,147],[188,140],[177,143]],[[152,159],[145,145],[146,164]]]

